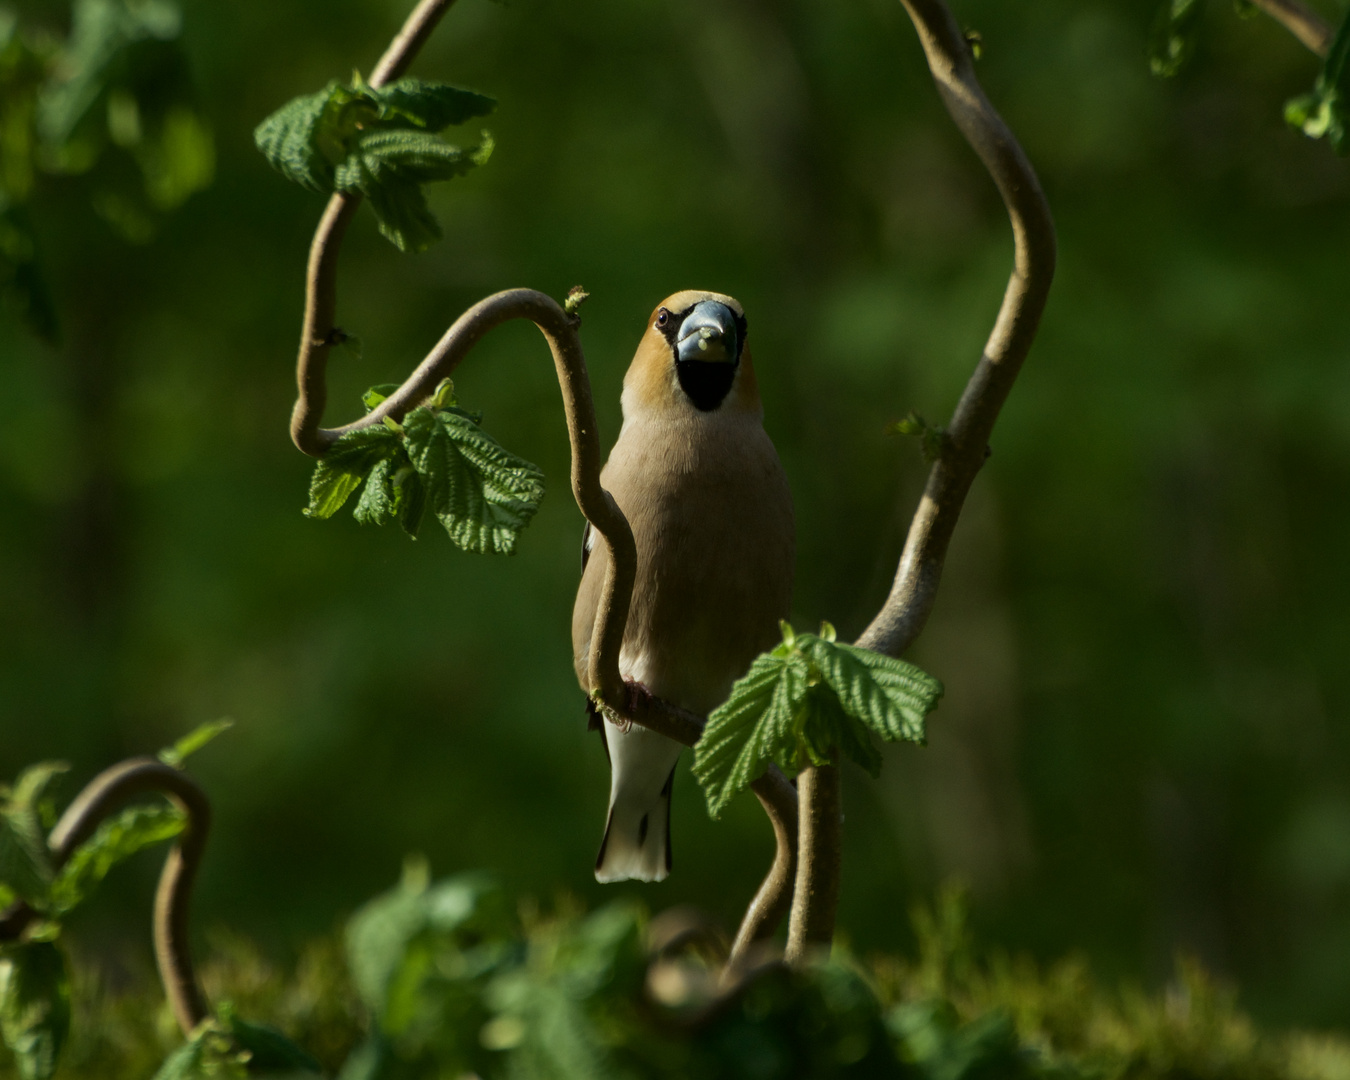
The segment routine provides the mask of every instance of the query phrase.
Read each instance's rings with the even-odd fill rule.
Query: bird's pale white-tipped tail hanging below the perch
[[[671,788],[680,745],[645,728],[601,728],[612,770],[597,882],[660,882],[671,871]]]

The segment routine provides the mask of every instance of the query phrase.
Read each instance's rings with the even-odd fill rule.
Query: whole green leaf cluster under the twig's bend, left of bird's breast
[[[383,401],[387,389],[367,390],[366,408]],[[333,443],[315,466],[305,513],[332,517],[364,483],[354,510],[362,524],[397,518],[416,536],[429,504],[464,551],[510,555],[544,498],[544,474],[502,448],[479,420],[455,404],[454,385],[444,379],[402,424],[386,417]]]

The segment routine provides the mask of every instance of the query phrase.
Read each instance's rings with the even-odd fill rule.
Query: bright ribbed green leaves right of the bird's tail
[[[849,757],[876,776],[871,734],[923,742],[923,721],[942,684],[905,660],[845,645],[828,622],[821,636],[783,624],[783,643],[763,653],[707,718],[694,747],[694,775],[718,817],[774,761],[788,774]]]

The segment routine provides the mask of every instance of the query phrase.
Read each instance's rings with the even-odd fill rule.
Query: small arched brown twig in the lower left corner
[[[169,850],[155,892],[155,961],[165,994],[184,1035],[192,1035],[211,1010],[197,983],[188,941],[192,886],[201,867],[211,830],[211,802],[186,772],[155,757],[132,757],[94,776],[66,807],[47,838],[51,863],[61,869],[99,825],[127,801],[138,795],[166,796],[188,817],[188,826]],[[0,921],[0,941],[12,940],[36,918],[27,905],[18,905]]]

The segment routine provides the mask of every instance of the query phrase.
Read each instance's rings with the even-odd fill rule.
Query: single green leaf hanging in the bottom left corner
[[[50,941],[0,948],[0,1035],[23,1080],[49,1080],[70,1033],[70,981]]]

